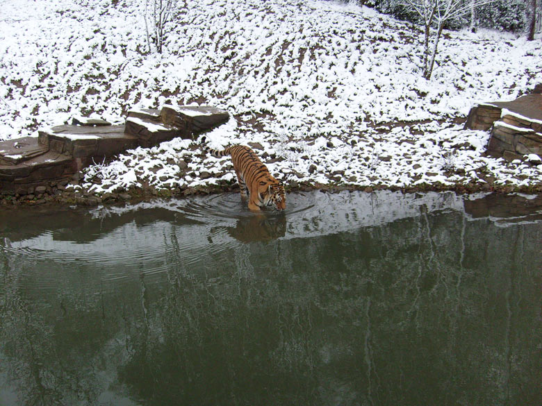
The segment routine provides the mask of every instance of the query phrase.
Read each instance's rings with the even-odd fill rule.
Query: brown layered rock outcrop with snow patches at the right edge
[[[490,155],[507,160],[542,156],[542,94],[475,105],[465,128],[491,130],[487,146]]]

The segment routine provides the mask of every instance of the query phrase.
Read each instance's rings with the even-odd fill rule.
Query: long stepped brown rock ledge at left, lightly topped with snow
[[[83,167],[136,146],[149,147],[196,133],[229,119],[227,112],[208,106],[165,106],[133,110],[125,124],[74,117],[72,125],[38,131],[39,136],[0,142],[0,193],[32,194],[37,187],[65,182]]]

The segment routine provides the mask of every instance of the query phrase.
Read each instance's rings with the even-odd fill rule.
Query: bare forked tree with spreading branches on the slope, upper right
[[[403,0],[402,5],[416,12],[424,26],[423,77],[429,80],[433,73],[438,41],[446,22],[463,17],[475,8],[494,0]]]

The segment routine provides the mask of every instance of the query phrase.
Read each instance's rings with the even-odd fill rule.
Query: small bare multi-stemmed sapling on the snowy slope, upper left
[[[147,46],[151,52],[151,42],[156,46],[156,52],[162,53],[167,24],[171,22],[176,0],[145,0],[145,30],[147,31]],[[149,25],[151,32],[149,32]]]

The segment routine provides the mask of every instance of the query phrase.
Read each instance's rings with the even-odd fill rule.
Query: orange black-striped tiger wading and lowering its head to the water
[[[273,206],[277,210],[286,208],[286,193],[279,180],[273,178],[256,153],[248,146],[232,145],[223,151],[205,147],[207,153],[216,158],[231,155],[233,169],[236,171],[241,192],[241,199],[248,201],[248,208],[259,211],[266,206]],[[248,192],[248,196],[247,196]]]

